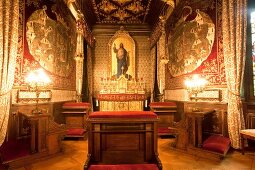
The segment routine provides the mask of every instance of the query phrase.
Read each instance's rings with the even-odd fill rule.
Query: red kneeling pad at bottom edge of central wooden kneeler
[[[158,170],[155,164],[91,165],[89,170]]]

